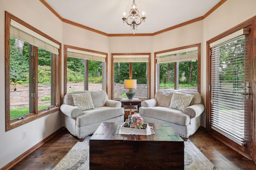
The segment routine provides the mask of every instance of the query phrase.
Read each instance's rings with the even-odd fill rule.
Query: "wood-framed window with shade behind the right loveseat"
[[[200,44],[155,53],[157,90],[200,92]]]

